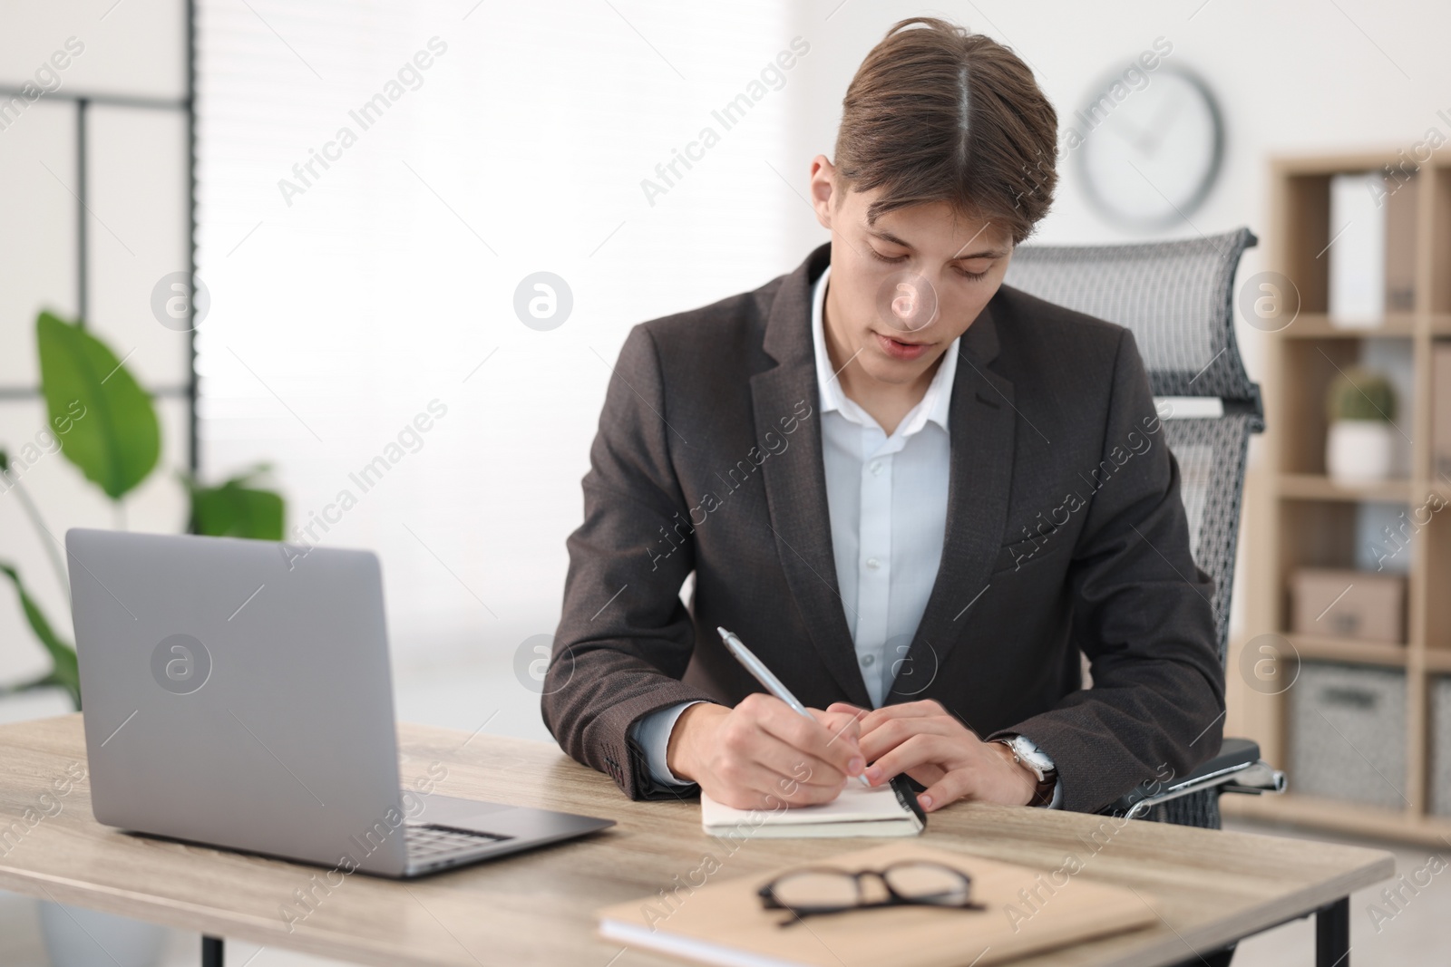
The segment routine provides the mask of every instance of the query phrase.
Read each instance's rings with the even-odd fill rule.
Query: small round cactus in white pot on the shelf
[[[1396,390],[1383,373],[1342,371],[1325,399],[1325,471],[1338,483],[1386,480],[1396,464]]]

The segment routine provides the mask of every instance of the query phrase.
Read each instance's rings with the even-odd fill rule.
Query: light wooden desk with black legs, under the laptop
[[[663,967],[679,961],[621,953],[599,939],[593,910],[686,883],[707,854],[720,860],[712,877],[720,879],[881,842],[753,839],[730,852],[726,841],[701,832],[696,803],[630,802],[553,745],[416,725],[399,734],[405,784],[441,764],[440,793],[611,816],[620,825],[424,880],[337,874],[329,887],[322,868],[99,825],[84,780],[64,796],[52,787],[68,765],[86,765],[81,718],[71,715],[0,728],[0,887],[386,967]],[[41,799],[48,790],[49,802]],[[54,815],[32,825],[22,818],[26,809],[35,810],[32,819]],[[1348,944],[1345,897],[1394,873],[1389,852],[1355,847],[982,805],[933,815],[924,839],[1045,871],[1072,852],[1084,863],[1078,876],[1132,886],[1161,915],[1149,929],[1017,961],[1023,967],[1172,964],[1329,906],[1333,916],[1319,918],[1323,954],[1338,934]]]

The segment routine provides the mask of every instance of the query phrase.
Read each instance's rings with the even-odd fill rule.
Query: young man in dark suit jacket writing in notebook
[[[1210,583],[1133,338],[1003,286],[1056,135],[1011,51],[904,20],[811,165],[830,244],[630,333],[543,702],[570,755],[636,799],[905,773],[927,810],[1097,810],[1217,751]]]

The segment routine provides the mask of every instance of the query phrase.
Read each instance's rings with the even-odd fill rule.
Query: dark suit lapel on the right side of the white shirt
[[[916,700],[936,678],[963,636],[972,609],[991,593],[988,576],[1007,528],[1017,410],[1013,383],[988,368],[998,352],[992,303],[958,348],[948,416],[952,457],[942,564],[907,658],[884,700],[888,705]]]

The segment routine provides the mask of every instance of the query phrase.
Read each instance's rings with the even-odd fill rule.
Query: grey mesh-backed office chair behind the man
[[[1245,454],[1249,435],[1264,429],[1259,387],[1235,344],[1235,270],[1257,241],[1242,228],[1174,242],[1024,245],[1004,280],[1133,332],[1180,465],[1194,563],[1214,578],[1220,661],[1229,644]],[[1284,784],[1255,742],[1226,738],[1188,776],[1145,783],[1103,812],[1219,829],[1220,793],[1284,792]]]

